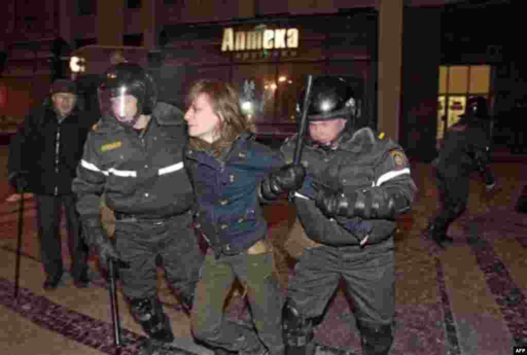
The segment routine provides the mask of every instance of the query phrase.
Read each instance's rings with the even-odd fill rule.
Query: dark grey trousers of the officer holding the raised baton
[[[393,341],[391,324],[395,314],[393,236],[365,248],[321,245],[306,249],[295,265],[288,297],[296,303],[302,316],[319,317],[341,278],[354,302],[353,313],[363,338],[363,353],[386,354]],[[369,348],[383,350],[372,352]]]

